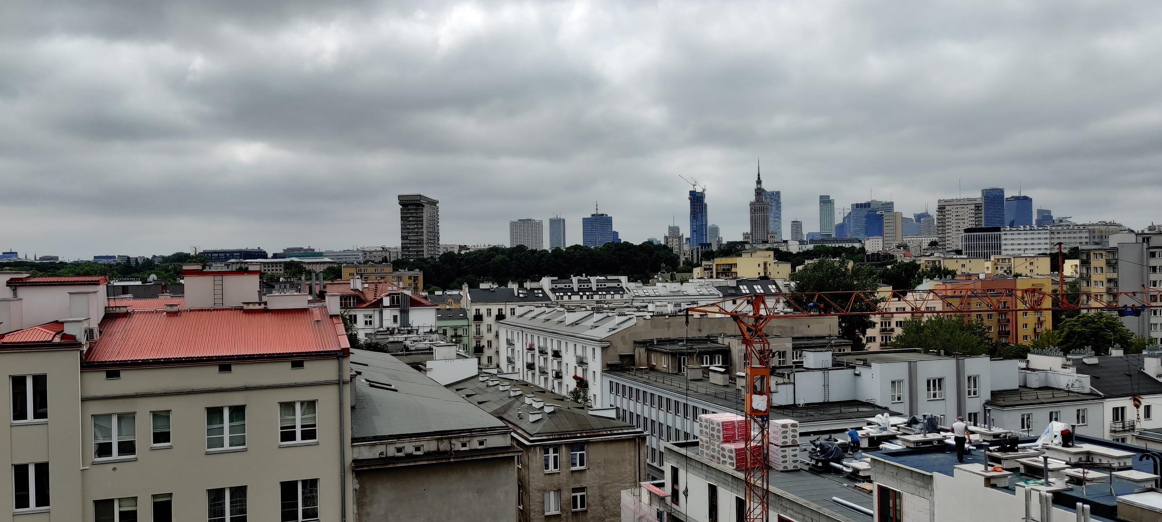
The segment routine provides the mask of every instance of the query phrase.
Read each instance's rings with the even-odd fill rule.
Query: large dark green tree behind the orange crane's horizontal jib
[[[880,288],[880,275],[875,269],[860,264],[848,268],[846,261],[831,259],[820,259],[804,267],[791,274],[790,280],[795,282],[796,292],[865,292]],[[851,297],[852,293],[830,296],[837,303],[847,302]],[[806,310],[808,296],[797,295],[792,296],[791,299]],[[817,304],[823,312],[834,311],[825,303]],[[856,302],[852,309],[855,312],[870,312],[873,310],[874,306],[862,302]],[[863,334],[873,326],[875,322],[866,316],[840,316],[839,336],[852,341],[853,349],[861,350],[863,349]]]

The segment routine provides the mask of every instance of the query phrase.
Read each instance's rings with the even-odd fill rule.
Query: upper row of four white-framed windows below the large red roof
[[[279,443],[318,440],[314,400],[279,403]],[[150,447],[168,448],[171,411],[150,412]],[[246,406],[206,408],[206,450],[246,448]],[[125,458],[137,455],[137,413],[93,415],[93,458]]]

